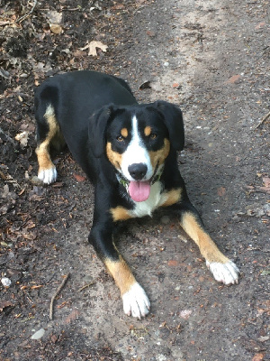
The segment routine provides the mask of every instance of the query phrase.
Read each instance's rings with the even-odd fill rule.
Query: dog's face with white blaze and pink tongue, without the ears
[[[136,114],[119,110],[106,134],[107,157],[128,181],[130,198],[136,202],[148,199],[151,182],[162,171],[170,149],[162,117],[151,107]]]

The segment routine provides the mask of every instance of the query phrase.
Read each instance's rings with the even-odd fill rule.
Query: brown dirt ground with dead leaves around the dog
[[[268,16],[266,0],[0,2],[0,270],[11,281],[0,284],[1,360],[270,359]],[[108,48],[91,55],[93,41]],[[56,183],[35,178],[33,89],[74,69],[121,76],[141,102],[181,106],[179,166],[238,264],[238,285],[215,282],[176,219],[157,213],[117,238],[151,301],[146,319],[124,315],[87,244],[84,173],[64,152]]]

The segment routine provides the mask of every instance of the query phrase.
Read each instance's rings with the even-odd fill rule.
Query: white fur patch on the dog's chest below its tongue
[[[157,181],[151,186],[150,195],[143,202],[135,202],[135,208],[130,211],[132,217],[151,216],[152,212],[166,202],[166,193],[162,193],[162,184]]]

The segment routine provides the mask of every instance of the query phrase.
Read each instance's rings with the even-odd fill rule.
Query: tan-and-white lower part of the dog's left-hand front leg
[[[148,296],[121,255],[118,261],[105,259],[104,264],[120,289],[124,312],[137,319],[146,316],[150,308]]]

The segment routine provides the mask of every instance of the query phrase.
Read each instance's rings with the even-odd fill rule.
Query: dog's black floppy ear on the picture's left
[[[100,158],[105,152],[105,132],[110,118],[112,117],[113,106],[103,106],[94,115],[90,116],[88,125],[88,139],[96,158]]]

